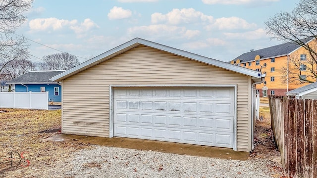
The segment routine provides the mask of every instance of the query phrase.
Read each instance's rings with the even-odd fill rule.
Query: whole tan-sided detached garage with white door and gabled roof
[[[52,78],[62,133],[251,151],[258,71],[136,38]]]

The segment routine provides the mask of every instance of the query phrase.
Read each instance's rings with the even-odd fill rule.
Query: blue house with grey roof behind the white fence
[[[15,85],[15,92],[49,92],[50,102],[61,102],[61,84],[52,82],[51,78],[64,71],[30,71],[6,84]]]

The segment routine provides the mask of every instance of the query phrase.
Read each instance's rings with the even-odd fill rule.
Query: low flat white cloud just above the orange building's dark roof
[[[266,31],[262,28],[254,30],[254,31],[248,31],[243,33],[223,33],[227,38],[230,38],[232,40],[258,40],[263,38],[268,38],[266,35]]]

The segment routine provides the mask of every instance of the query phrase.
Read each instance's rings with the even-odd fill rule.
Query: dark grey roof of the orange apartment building
[[[309,37],[309,38],[302,39],[301,41],[308,43],[311,40],[313,40],[313,38]],[[294,43],[294,42],[284,43],[284,44],[280,44],[280,45],[274,45],[274,46],[266,47],[263,49],[243,53],[240,56],[233,59],[233,61],[236,61],[238,59],[240,59],[240,63],[254,61],[254,59],[257,55],[260,56],[260,59],[268,59],[268,58],[273,58],[273,57],[285,56],[285,55],[292,53],[293,51],[295,51],[299,47],[301,47],[301,46]],[[231,62],[231,61],[229,61],[229,62]]]

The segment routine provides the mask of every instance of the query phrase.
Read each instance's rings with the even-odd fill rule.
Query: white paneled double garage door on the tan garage
[[[233,147],[234,88],[115,88],[113,135]]]

